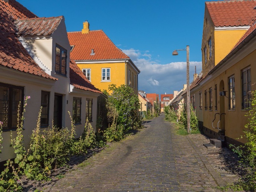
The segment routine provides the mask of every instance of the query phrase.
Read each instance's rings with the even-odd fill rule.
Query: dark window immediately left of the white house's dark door
[[[49,101],[50,101],[50,92],[42,91],[41,92],[41,127],[49,126]]]

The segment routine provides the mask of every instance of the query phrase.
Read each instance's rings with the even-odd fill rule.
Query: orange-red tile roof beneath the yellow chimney
[[[68,32],[70,45],[75,45],[70,56],[74,60],[130,59],[108,38],[102,30],[89,31],[88,34]],[[91,55],[91,50],[94,55]]]

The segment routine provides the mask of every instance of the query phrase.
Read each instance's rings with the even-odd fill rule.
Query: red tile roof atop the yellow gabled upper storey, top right
[[[249,25],[256,15],[255,0],[205,2],[215,27]]]

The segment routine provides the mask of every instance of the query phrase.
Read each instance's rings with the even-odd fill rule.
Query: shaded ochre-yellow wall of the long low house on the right
[[[236,140],[237,138],[240,138],[241,135],[243,135],[243,130],[244,130],[244,125],[247,123],[247,117],[244,115],[248,112],[248,110],[243,110],[242,109],[242,82],[241,82],[241,70],[251,66],[251,80],[252,84],[256,82],[256,76],[253,75],[253,71],[256,70],[256,65],[255,65],[255,60],[256,60],[256,50],[246,56],[244,59],[238,61],[235,65],[230,67],[228,70],[223,71],[219,76],[217,76],[215,79],[208,81],[202,86],[202,91],[203,91],[203,110],[204,110],[204,90],[209,90],[210,87],[212,87],[212,93],[213,93],[213,109],[212,111],[204,110],[204,127],[213,130],[215,132],[218,132],[218,129],[213,129],[212,128],[212,120],[214,119],[214,114],[215,113],[220,113],[220,97],[224,98],[224,113],[225,115],[225,136]],[[220,96],[219,92],[224,90],[228,91],[228,77],[235,75],[235,102],[236,102],[236,109],[235,110],[229,110],[228,106],[228,92],[226,92],[226,96]],[[224,89],[223,87],[220,87],[220,82],[223,80],[224,82]],[[214,99],[214,85],[217,84],[217,111],[215,111],[215,99]],[[256,87],[255,85],[252,85],[252,90],[254,90]],[[208,106],[209,106],[209,92],[207,93],[207,99],[208,99]],[[218,120],[214,121],[214,127],[217,127],[217,123],[219,121],[219,116],[216,116]],[[239,117],[239,118],[238,118]],[[244,142],[244,140],[239,140],[240,142]]]

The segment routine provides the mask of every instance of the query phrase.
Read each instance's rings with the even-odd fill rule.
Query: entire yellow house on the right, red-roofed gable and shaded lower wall
[[[190,95],[196,97],[203,132],[227,144],[245,142],[237,138],[244,134],[250,91],[256,88],[255,5],[254,0],[205,3],[203,76]]]

